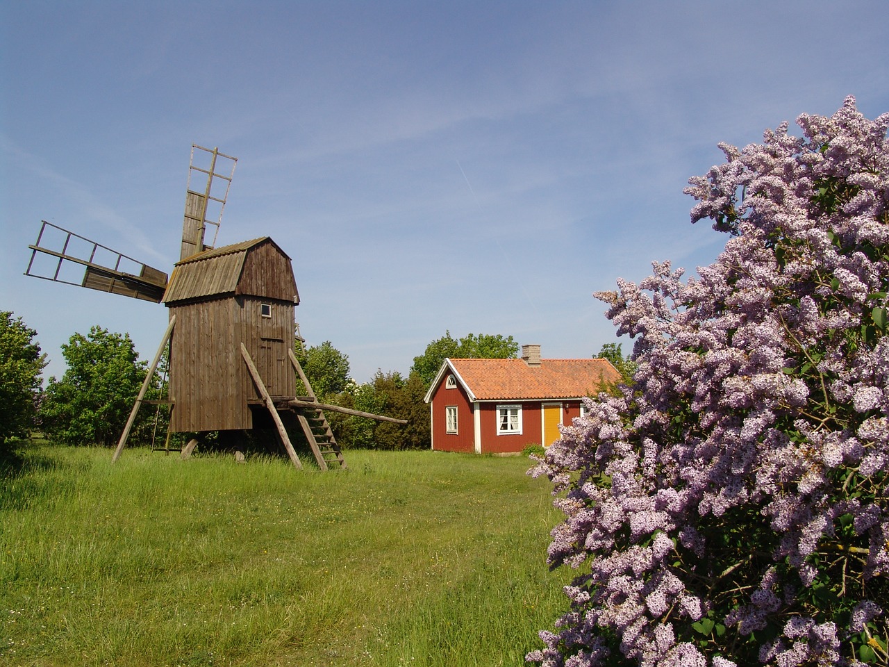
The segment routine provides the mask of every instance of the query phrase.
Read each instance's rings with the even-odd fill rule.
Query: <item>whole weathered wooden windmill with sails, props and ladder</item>
[[[192,146],[180,261],[171,276],[46,221],[36,244],[28,246],[31,260],[25,273],[163,302],[169,309],[169,325],[114,460],[169,346],[172,432],[252,430],[254,418],[268,412],[294,466],[301,468],[285,420],[299,422],[322,470],[330,465],[345,468],[324,410],[406,422],[318,402],[293,354],[293,309],[300,295],[291,258],[271,238],[214,247],[236,162],[218,149]],[[213,240],[208,244],[211,226]],[[190,441],[185,451],[195,443]]]

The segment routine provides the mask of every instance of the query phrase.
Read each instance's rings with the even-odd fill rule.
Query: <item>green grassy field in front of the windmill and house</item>
[[[0,489],[0,663],[520,665],[566,604],[525,457],[26,452]]]

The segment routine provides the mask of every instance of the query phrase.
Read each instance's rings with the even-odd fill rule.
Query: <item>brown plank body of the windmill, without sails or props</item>
[[[197,253],[173,269],[164,293],[176,317],[170,346],[173,431],[252,429],[264,399],[244,365],[243,343],[268,394],[296,396],[290,257],[269,237]],[[300,392],[302,393],[302,392]]]

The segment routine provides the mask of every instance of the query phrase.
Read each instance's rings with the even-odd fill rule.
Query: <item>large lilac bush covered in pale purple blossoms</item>
[[[887,663],[889,114],[797,123],[689,181],[715,263],[596,294],[638,369],[531,470],[578,570],[531,662]]]

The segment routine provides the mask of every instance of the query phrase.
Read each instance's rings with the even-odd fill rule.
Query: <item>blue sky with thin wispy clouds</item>
[[[591,293],[725,245],[682,194],[718,141],[889,111],[887,34],[881,1],[6,0],[0,309],[47,375],[91,325],[151,358],[163,306],[25,277],[27,246],[47,220],[169,272],[197,143],[239,158],[218,244],[274,238],[358,382],[445,330],[589,357]]]

